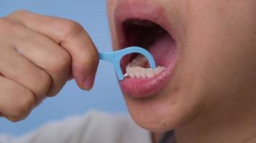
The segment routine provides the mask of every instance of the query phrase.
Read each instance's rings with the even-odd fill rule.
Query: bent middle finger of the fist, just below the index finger
[[[52,84],[47,95],[58,94],[70,74],[71,59],[68,52],[52,39],[31,29],[19,29],[15,37],[13,42],[17,51],[50,75]]]

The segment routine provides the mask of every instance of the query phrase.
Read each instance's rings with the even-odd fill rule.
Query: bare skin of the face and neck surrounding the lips
[[[122,1],[107,1],[114,49],[114,9]],[[178,143],[255,142],[256,1],[152,2],[173,24],[178,64],[155,97],[124,95],[134,121],[152,132],[175,129]]]

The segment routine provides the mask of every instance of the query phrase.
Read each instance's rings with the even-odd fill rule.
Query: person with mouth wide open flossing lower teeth
[[[131,71],[137,79],[120,82],[129,114],[147,130],[93,112],[0,142],[256,142],[256,1],[107,4],[114,50],[142,46],[165,67],[150,78]],[[70,77],[93,87],[97,50],[76,21],[16,11],[0,19],[0,35],[2,117],[24,119]]]

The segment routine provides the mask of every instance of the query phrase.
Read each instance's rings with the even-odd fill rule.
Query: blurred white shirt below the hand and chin
[[[0,135],[0,143],[152,143],[150,132],[126,115],[89,112],[51,122],[21,137]]]

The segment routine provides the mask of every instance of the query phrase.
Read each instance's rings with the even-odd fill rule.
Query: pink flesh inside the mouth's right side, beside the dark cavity
[[[158,38],[148,49],[157,66],[168,66],[175,58],[175,42],[169,34]]]

